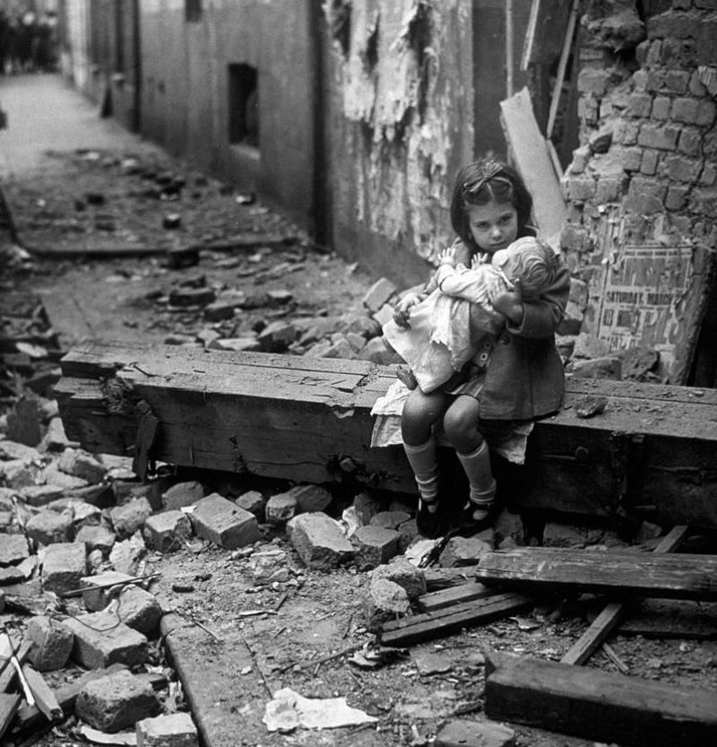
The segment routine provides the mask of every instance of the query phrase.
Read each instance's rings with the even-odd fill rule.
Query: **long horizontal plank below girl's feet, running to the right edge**
[[[532,594],[590,592],[717,600],[717,556],[523,547],[488,552],[476,578]]]

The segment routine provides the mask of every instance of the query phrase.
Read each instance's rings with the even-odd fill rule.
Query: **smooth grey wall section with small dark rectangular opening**
[[[311,0],[144,0],[141,13],[143,135],[306,225],[315,168]],[[241,97],[251,83],[250,105]],[[243,106],[258,117],[258,143],[241,142],[245,122],[232,125]]]

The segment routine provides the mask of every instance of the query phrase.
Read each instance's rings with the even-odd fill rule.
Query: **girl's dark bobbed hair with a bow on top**
[[[510,203],[518,213],[518,238],[531,236],[532,196],[523,178],[501,161],[481,160],[466,164],[455,178],[451,200],[451,224],[463,243],[477,249],[468,218],[473,205]]]

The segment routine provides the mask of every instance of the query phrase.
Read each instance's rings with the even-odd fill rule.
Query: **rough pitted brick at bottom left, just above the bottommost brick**
[[[74,703],[77,717],[108,734],[117,734],[160,710],[151,683],[125,669],[87,682]]]

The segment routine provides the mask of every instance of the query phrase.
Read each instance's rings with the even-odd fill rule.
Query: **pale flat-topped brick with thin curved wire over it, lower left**
[[[87,669],[101,669],[109,664],[135,666],[149,656],[147,638],[117,621],[117,614],[103,610],[62,621],[74,635],[73,661]]]

